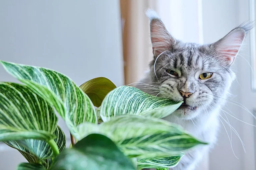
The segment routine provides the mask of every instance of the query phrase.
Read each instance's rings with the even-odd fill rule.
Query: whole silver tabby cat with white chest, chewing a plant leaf
[[[156,12],[148,10],[146,14],[150,19],[154,57],[136,87],[158,97],[184,102],[163,119],[209,143],[188,150],[179,164],[171,168],[194,170],[217,141],[218,115],[235,79],[230,67],[253,24],[243,23],[219,41],[200,45],[176,40]]]

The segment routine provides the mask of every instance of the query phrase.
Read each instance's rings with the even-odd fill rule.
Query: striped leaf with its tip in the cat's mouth
[[[174,102],[144,93],[130,86],[120,86],[112,90],[101,104],[100,116],[104,122],[118,115],[143,115],[164,118],[180,107],[182,102]]]

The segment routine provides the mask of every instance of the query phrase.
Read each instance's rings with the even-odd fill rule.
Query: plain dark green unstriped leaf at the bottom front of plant
[[[114,142],[101,134],[90,134],[55,159],[51,170],[135,170]]]

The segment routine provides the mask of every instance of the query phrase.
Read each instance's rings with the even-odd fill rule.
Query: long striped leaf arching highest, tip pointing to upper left
[[[69,77],[42,67],[1,63],[8,73],[55,107],[73,136],[77,136],[77,125],[83,122],[97,123],[91,100]]]

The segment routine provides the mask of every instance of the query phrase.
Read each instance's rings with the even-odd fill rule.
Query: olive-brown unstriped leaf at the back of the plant
[[[116,88],[116,85],[105,77],[97,77],[83,83],[80,88],[89,96],[94,106],[100,107],[105,96]]]

